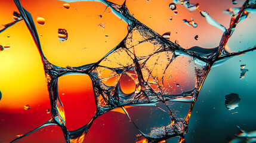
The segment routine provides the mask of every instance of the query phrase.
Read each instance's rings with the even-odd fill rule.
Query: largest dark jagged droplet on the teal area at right
[[[236,107],[239,107],[238,104],[240,102],[240,98],[238,94],[228,94],[225,96],[225,105],[228,110],[234,110]]]

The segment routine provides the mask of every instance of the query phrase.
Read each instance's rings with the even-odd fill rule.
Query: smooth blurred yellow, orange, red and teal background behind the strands
[[[62,1],[20,2],[32,14],[38,34],[41,35],[39,39],[45,57],[56,66],[95,63],[128,33],[127,23],[100,2],[72,2],[69,9],[63,7],[65,2]],[[124,1],[112,2],[122,4]],[[218,46],[223,34],[220,29],[206,23],[199,11],[190,12],[180,4],[177,5],[178,14],[175,15],[174,11],[169,10],[171,2],[128,0],[127,7],[137,20],[160,35],[171,32],[170,41],[177,40],[183,48]],[[238,1],[237,5],[233,5],[231,0],[190,2],[199,3],[199,10],[207,11],[218,23],[228,27],[230,16],[224,14],[223,10],[240,7],[244,1]],[[0,0],[0,24],[11,23],[13,11],[18,11],[13,1]],[[98,15],[102,15],[102,18]],[[45,18],[45,24],[36,23],[37,17]],[[169,20],[170,17],[172,20]],[[183,23],[183,19],[191,20],[192,17],[198,23],[196,28]],[[226,48],[239,51],[254,46],[255,21],[256,16],[249,14],[246,20],[239,23]],[[99,24],[103,24],[104,29]],[[57,32],[60,28],[67,30],[67,41],[58,41]],[[199,35],[198,41],[194,39],[196,35]],[[5,44],[11,47],[0,51],[0,142],[10,142],[16,135],[29,132],[50,119],[50,113],[47,113],[50,99],[41,57],[24,21],[0,34],[0,45]],[[234,138],[238,133],[236,125],[243,130],[256,130],[255,55],[255,52],[251,52],[234,57],[211,70],[192,112],[186,142],[226,142],[227,136]],[[246,64],[249,70],[243,79],[239,79],[240,64]],[[88,123],[96,110],[90,77],[60,77],[58,90],[66,113],[67,129],[75,130]],[[130,90],[129,87],[127,90]],[[237,93],[241,98],[240,107],[234,111],[227,110],[224,105],[225,95],[230,93]],[[27,104],[30,109],[24,110]],[[110,111],[95,120],[84,142],[136,141],[138,132],[129,126],[128,118],[120,112]],[[48,126],[18,142],[64,142],[61,132],[58,126]]]

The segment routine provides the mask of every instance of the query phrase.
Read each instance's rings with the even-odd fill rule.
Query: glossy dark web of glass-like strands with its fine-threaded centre
[[[132,140],[127,142],[185,142],[184,133],[187,132],[193,105],[213,64],[256,49],[254,47],[239,52],[228,52],[224,49],[235,31],[236,24],[245,19],[247,13],[255,10],[255,2],[252,1],[245,1],[238,11],[233,11],[229,27],[218,24],[209,17],[208,13],[200,11],[209,24],[223,30],[220,45],[212,49],[199,46],[184,49],[177,42],[169,41],[132,17],[125,2],[118,5],[98,0],[128,24],[127,36],[96,63],[80,67],[59,67],[50,63],[45,57],[35,27],[36,22],[33,21],[30,12],[22,7],[20,1],[14,0],[14,2],[20,14],[15,12],[14,21],[3,25],[0,32],[18,21],[24,20],[26,23],[44,64],[51,102],[51,108],[47,113],[51,113],[51,117],[38,128],[18,135],[11,142],[22,142],[26,136],[33,136],[38,130],[47,130],[47,128],[58,128],[55,129],[56,135],[60,135],[61,128],[66,142],[91,142],[90,136],[99,130],[97,123],[101,123],[101,120],[103,122],[101,118],[104,116],[116,117],[113,119],[116,122],[122,120],[123,124],[132,126],[130,130],[134,131],[134,135],[131,133]],[[179,2],[188,9],[198,10],[198,4],[190,5],[189,1],[175,3]],[[169,6],[171,10],[176,9],[176,4],[172,3]],[[65,4],[64,7],[69,9],[70,5]],[[38,21],[39,24],[46,23],[44,20],[42,22],[42,18],[39,20],[41,20]],[[198,26],[193,18],[192,21],[186,20],[184,23],[192,27]],[[104,29],[104,24],[99,26]],[[58,29],[60,42],[69,41],[68,33],[66,29]],[[197,40],[198,36],[195,39]],[[8,48],[10,46],[1,46],[1,51]],[[245,73],[243,71],[242,75],[241,70],[241,76],[245,76]],[[91,102],[88,101],[87,104],[93,106],[92,112],[87,112],[86,122],[76,127],[70,126],[67,122],[68,118],[72,119],[66,109],[71,108],[68,103],[69,98],[64,96],[68,93],[58,88],[61,80],[68,78],[70,74],[83,74],[85,81],[90,80],[89,83],[92,83],[86,88],[90,92],[90,97],[85,99],[90,99]],[[1,95],[0,99],[2,96],[4,95]],[[79,105],[74,106],[74,110],[81,108]],[[29,110],[29,104],[24,108]],[[103,126],[101,128],[104,130]],[[119,130],[123,132],[122,128]],[[94,141],[97,142],[97,139]],[[120,141],[117,139],[114,142]]]

